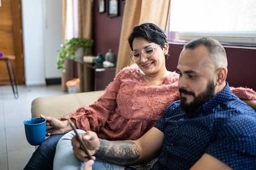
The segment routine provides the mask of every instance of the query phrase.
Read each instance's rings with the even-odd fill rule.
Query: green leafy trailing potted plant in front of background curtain
[[[73,59],[79,48],[83,48],[83,50],[89,54],[91,52],[92,44],[93,40],[87,38],[72,38],[66,40],[65,44],[60,45],[61,49],[57,51],[57,69],[64,69],[65,58]]]

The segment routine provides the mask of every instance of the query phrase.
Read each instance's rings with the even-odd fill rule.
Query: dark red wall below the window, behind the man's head
[[[169,44],[166,67],[175,71],[183,45]],[[256,49],[225,47],[228,59],[227,82],[234,87],[248,87],[256,91]]]

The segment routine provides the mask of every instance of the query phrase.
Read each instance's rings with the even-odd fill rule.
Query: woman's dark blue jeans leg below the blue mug
[[[24,169],[52,169],[56,145],[63,135],[52,135],[45,139],[34,151]]]

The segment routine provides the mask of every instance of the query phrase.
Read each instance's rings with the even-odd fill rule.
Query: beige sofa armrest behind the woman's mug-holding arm
[[[31,117],[40,117],[40,114],[60,118],[68,113],[75,112],[79,106],[93,104],[105,90],[65,94],[59,96],[39,97],[32,101]]]

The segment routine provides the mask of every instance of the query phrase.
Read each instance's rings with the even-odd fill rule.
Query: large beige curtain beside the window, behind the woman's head
[[[143,23],[154,23],[165,30],[171,0],[126,0],[124,5],[123,19],[118,56],[116,63],[116,74],[124,67],[133,62],[129,58],[131,51],[127,38],[133,28]]]

